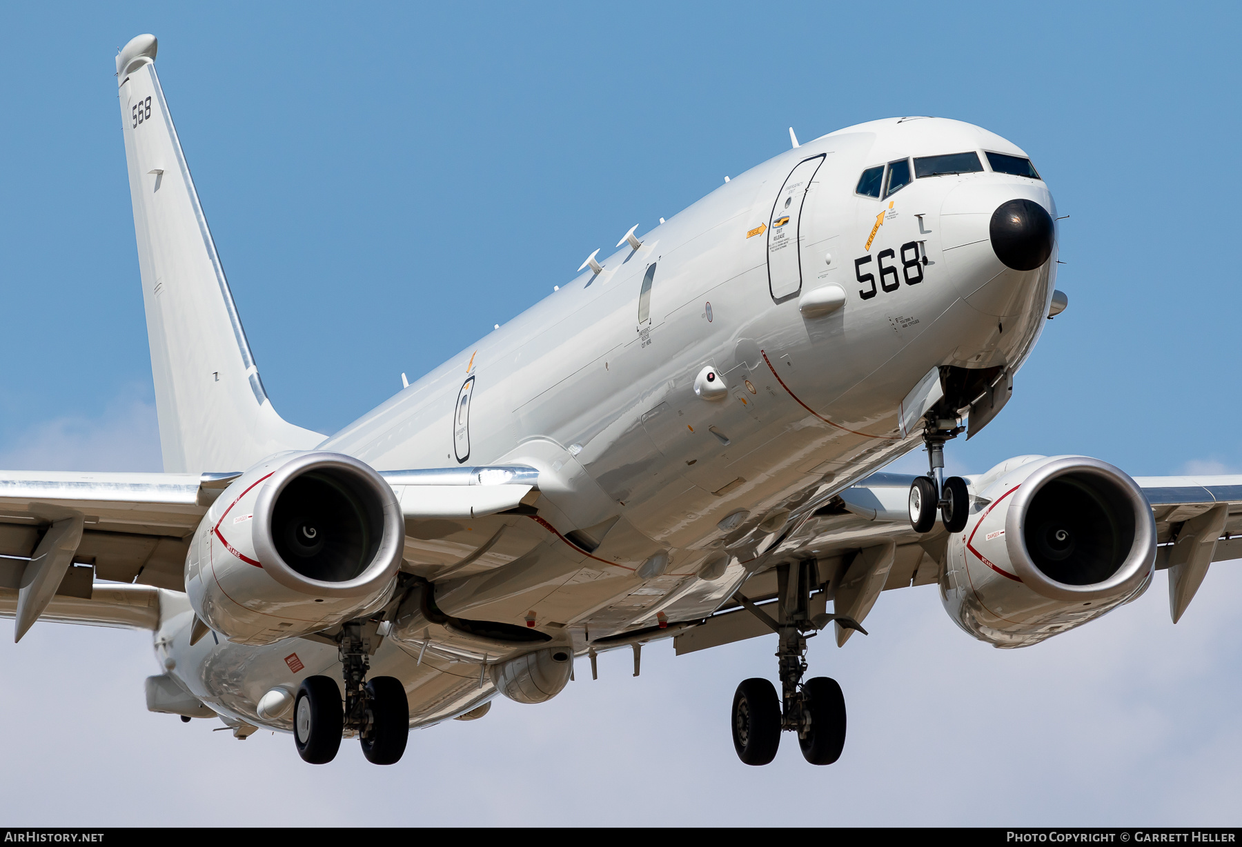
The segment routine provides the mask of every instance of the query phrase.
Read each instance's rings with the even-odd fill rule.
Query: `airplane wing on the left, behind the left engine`
[[[158,590],[185,590],[190,539],[238,476],[0,471],[0,616],[17,638],[40,617],[153,628]],[[515,467],[381,476],[407,527],[517,508],[538,482]]]

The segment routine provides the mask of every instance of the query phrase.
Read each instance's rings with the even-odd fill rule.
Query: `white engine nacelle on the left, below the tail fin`
[[[405,548],[389,484],[340,453],[282,453],[226,488],[185,560],[194,612],[243,645],[317,632],[388,602]]]

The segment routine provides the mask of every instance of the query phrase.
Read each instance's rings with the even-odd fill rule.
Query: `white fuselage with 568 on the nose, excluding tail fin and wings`
[[[960,153],[981,169],[914,173],[917,158]],[[537,515],[407,537],[405,569],[435,585],[448,615],[529,626],[581,652],[596,636],[710,614],[776,539],[782,510],[920,443],[899,407],[929,370],[1012,373],[1030,354],[1056,247],[1033,270],[1007,267],[990,225],[1010,201],[1056,207],[1043,181],[999,173],[989,153],[1026,155],[939,118],[877,120],[787,150],[320,448],[379,471],[539,469]],[[903,160],[897,185],[900,165],[884,168]],[[815,308],[828,286],[843,304]],[[492,545],[476,555],[478,537]],[[709,566],[719,575],[700,578]],[[183,643],[188,615],[158,642]],[[424,623],[394,623],[371,664],[406,683],[416,725],[494,695],[479,667],[501,658]],[[335,648],[308,640],[159,650],[200,699],[255,725],[291,727],[255,709],[293,662],[339,676]]]

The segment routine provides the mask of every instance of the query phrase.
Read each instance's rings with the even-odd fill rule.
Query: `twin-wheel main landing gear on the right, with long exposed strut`
[[[768,679],[744,679],[733,695],[733,746],[748,765],[766,765],[776,756],[782,730],[797,733],[802,756],[812,765],[831,765],[841,758],[846,743],[846,700],[841,686],[828,677],[802,682],[806,673],[806,640],[815,630],[838,620],[862,630],[854,621],[836,615],[816,615],[807,605],[815,574],[814,561],[776,568],[780,597],[777,620],[740,595],[738,599],[780,636],[781,693]]]

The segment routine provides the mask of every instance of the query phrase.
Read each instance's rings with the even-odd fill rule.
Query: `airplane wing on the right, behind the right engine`
[[[779,590],[775,565],[814,559],[822,590],[811,599],[812,615],[827,610],[862,622],[882,591],[940,581],[948,533],[938,523],[919,535],[910,528],[907,498],[914,477],[874,473],[832,496],[815,498],[790,515],[784,537],[756,548],[768,570],[741,589],[763,610]],[[969,479],[969,477],[968,477]],[[1190,605],[1213,561],[1242,558],[1242,476],[1135,477],[1156,522],[1156,570],[1170,576],[1170,614],[1176,622]],[[760,530],[751,530],[758,534]],[[769,610],[771,611],[771,610]],[[773,614],[774,615],[774,614]],[[677,653],[688,653],[771,630],[738,601],[676,636]],[[851,635],[838,631],[838,643]]]

